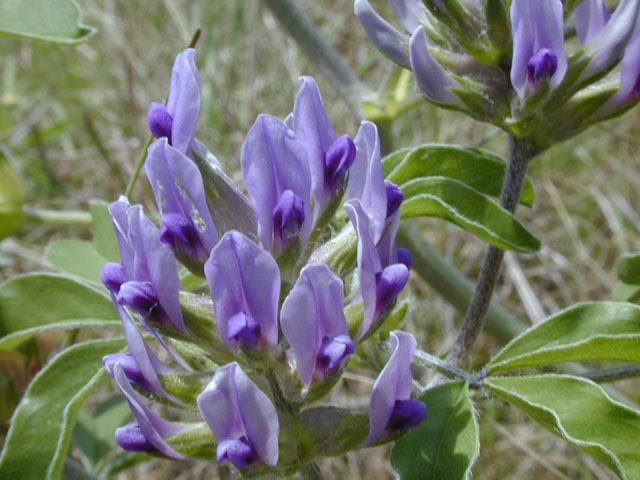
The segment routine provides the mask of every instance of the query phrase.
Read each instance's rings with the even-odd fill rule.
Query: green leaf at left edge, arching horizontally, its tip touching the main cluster
[[[0,285],[0,335],[60,322],[117,320],[111,300],[76,280],[30,273]]]

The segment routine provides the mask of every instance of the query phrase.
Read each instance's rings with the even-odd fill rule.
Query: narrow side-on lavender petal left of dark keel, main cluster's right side
[[[358,200],[349,200],[344,208],[358,236],[358,276],[360,294],[364,303],[364,319],[357,338],[369,331],[376,315],[376,273],[382,270],[380,258],[373,243],[371,221]]]

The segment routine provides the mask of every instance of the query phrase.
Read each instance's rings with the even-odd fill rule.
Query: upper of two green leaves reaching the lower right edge
[[[586,360],[640,363],[640,307],[618,302],[571,306],[513,339],[487,368],[497,373]]]

